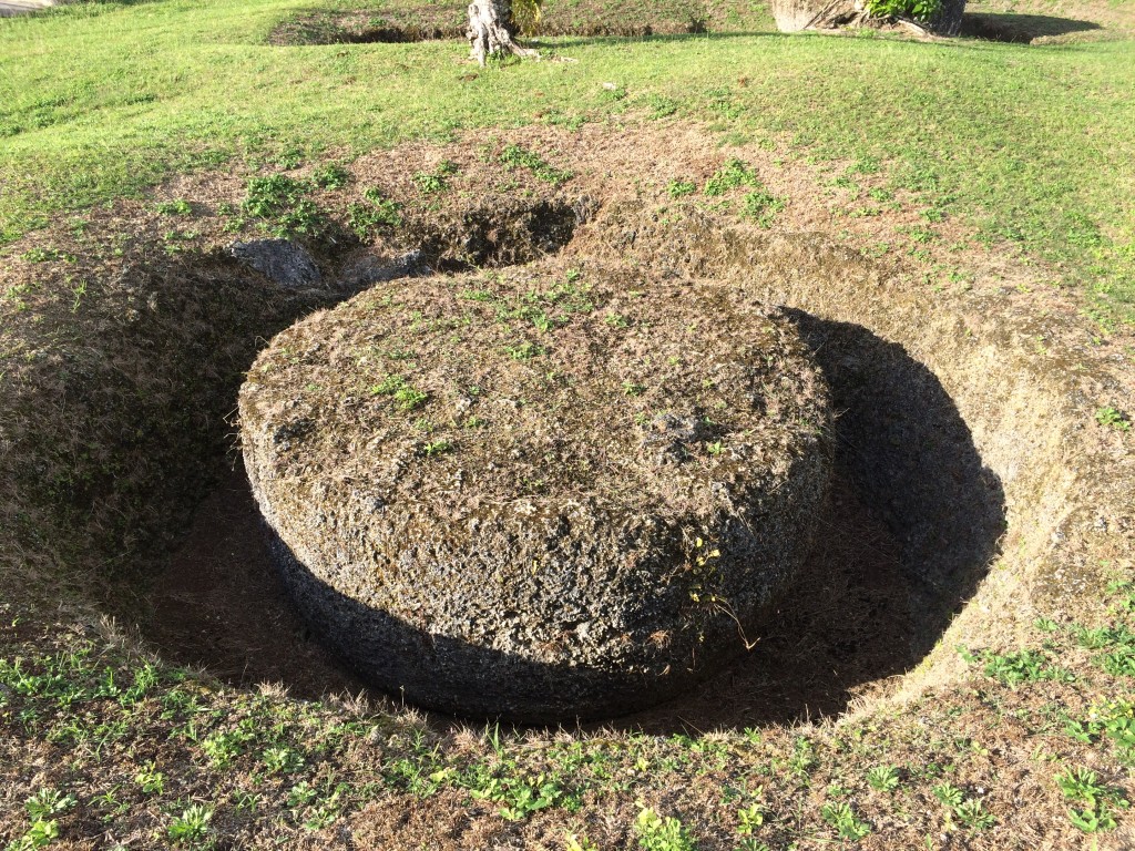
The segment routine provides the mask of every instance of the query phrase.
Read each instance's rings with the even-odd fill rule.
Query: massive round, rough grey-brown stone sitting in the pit
[[[241,433],[314,632],[410,702],[523,723],[743,654],[807,555],[832,415],[792,323],[734,295],[544,263],[384,283],[277,336]]]

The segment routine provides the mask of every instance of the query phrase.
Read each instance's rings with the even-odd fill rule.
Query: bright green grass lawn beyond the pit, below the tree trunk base
[[[723,137],[784,140],[801,157],[880,168],[940,213],[1053,263],[1059,283],[1103,313],[1133,315],[1132,42],[566,39],[545,53],[575,62],[463,79],[473,68],[455,64],[460,42],[267,45],[299,8],[167,0],[0,20],[0,242],[233,159],[650,116],[665,102]]]

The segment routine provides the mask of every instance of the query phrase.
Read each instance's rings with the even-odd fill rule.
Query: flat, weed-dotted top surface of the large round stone
[[[655,516],[766,487],[827,423],[775,310],[554,264],[382,284],[279,335],[242,391],[300,500],[597,500]],[[443,512],[444,514],[445,512]]]

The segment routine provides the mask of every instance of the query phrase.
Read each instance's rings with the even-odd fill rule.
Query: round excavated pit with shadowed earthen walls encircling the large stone
[[[756,647],[696,693],[611,724],[704,731],[836,715],[918,665],[951,623],[980,632],[991,610],[1094,581],[1085,565],[1098,541],[1084,530],[1100,516],[1116,528],[1108,506],[1119,503],[1104,492],[1115,477],[1086,450],[1069,457],[1083,399],[1068,381],[1070,355],[1035,356],[1046,326],[977,303],[926,303],[823,236],[726,227],[697,211],[659,224],[633,203],[574,203],[573,221],[568,208],[528,219],[535,230],[548,224],[541,251],[560,247],[565,264],[649,263],[788,305],[838,412],[821,532]],[[508,227],[459,227],[436,238],[434,260],[445,260],[438,246]],[[526,259],[494,245],[478,254]],[[92,389],[74,404],[87,406],[104,472],[68,483],[70,520],[106,509],[121,528],[95,537],[142,554],[102,585],[104,607],[167,658],[235,684],[281,682],[300,697],[364,690],[292,609],[225,419],[266,342],[352,290],[284,289],[219,255],[183,255],[135,279],[131,297],[151,310],[106,340],[117,352],[75,365]],[[124,378],[132,359],[148,378]],[[145,384],[154,374],[162,393]],[[41,482],[28,504],[58,502],[50,460],[36,463],[24,471]],[[131,508],[140,496],[145,508]],[[143,557],[167,545],[171,555]],[[1000,581],[983,582],[994,564]]]

